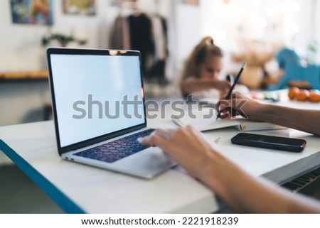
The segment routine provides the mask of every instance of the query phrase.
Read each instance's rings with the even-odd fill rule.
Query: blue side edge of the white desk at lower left
[[[66,195],[63,194],[58,188],[48,181],[41,173],[33,168],[26,160],[16,153],[10,146],[0,139],[0,151],[3,151],[8,158],[13,161],[23,173],[26,173],[41,190],[59,205],[66,213],[70,214],[83,214],[85,213],[78,205],[71,201]]]

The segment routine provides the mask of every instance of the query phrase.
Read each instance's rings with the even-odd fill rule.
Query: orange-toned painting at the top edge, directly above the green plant
[[[62,0],[63,13],[71,15],[95,15],[95,0]]]

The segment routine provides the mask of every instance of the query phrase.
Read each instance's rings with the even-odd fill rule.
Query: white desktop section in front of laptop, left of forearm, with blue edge
[[[70,213],[207,213],[218,209],[213,193],[176,170],[153,180],[64,161],[53,121],[3,126],[0,151]]]

